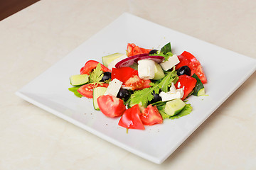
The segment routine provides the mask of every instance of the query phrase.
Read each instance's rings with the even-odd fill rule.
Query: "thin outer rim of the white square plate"
[[[137,17],[138,19],[142,19],[143,21],[146,21],[146,22],[149,22],[149,23],[153,23],[153,22],[151,22],[151,21],[147,21],[147,20],[144,19],[144,18],[140,18],[139,16],[134,16],[134,15],[132,15],[131,13],[123,13],[121,16],[119,16],[117,19],[115,19],[114,21],[112,21],[112,22],[111,22],[109,25],[107,25],[105,28],[107,28],[108,26],[111,26],[112,23],[116,22],[119,18],[126,17],[126,16]],[[157,23],[154,23],[154,24],[156,24],[157,26],[161,26],[161,25],[159,25],[159,24],[157,24]],[[161,27],[164,27],[164,26],[161,26]],[[105,28],[103,28],[102,30],[104,30]],[[166,27],[164,27],[164,28],[166,28]],[[166,28],[166,29],[172,30],[171,28]],[[100,31],[102,31],[102,30],[100,30]],[[100,33],[100,31],[99,31],[98,33]],[[176,32],[176,33],[180,33],[180,32],[178,32],[178,31],[176,31],[176,30],[172,30],[172,31],[174,31],[174,32]],[[181,33],[181,34],[186,35],[186,34],[184,34],[184,33]],[[96,33],[95,35],[97,35],[97,33]],[[90,40],[91,38],[94,38],[95,35],[92,35],[90,38],[88,38],[87,40],[85,40],[85,42],[88,41],[88,40]],[[189,38],[193,38],[193,39],[196,39],[196,40],[200,40],[200,39],[198,39],[198,38],[194,38],[194,37],[191,36],[191,35],[186,35],[186,36],[188,36]],[[206,41],[203,41],[203,40],[201,40],[201,41],[202,41],[203,43],[208,43],[208,44],[210,44],[210,45],[214,45],[214,44],[211,44],[210,42],[206,42]],[[82,44],[81,44],[81,45],[82,45]],[[214,46],[219,47],[218,45],[214,45]],[[80,45],[78,45],[78,47],[80,47]],[[70,53],[73,52],[74,50],[76,50],[78,47],[76,47],[75,49],[71,50]],[[223,48],[223,47],[219,47],[219,48],[221,48],[221,49],[223,49],[223,50],[228,50],[228,49],[225,49],[225,48]],[[231,50],[228,50],[228,51],[233,52],[233,51],[231,51]],[[69,53],[69,54],[70,54],[70,53]],[[238,54],[238,52],[235,52],[235,53]],[[68,54],[68,55],[69,55],[69,54]],[[62,59],[64,59],[65,57],[68,57],[68,55],[64,56]],[[242,56],[243,56],[243,57],[247,57],[247,56],[245,56],[245,55],[242,55]],[[248,58],[254,60],[254,62],[256,61],[254,58],[251,58],[251,57],[248,57]],[[62,60],[62,59],[60,59],[60,60]],[[59,61],[59,62],[60,62],[60,61]],[[57,63],[58,63],[58,62],[57,62]],[[57,63],[55,63],[55,64],[57,64]],[[55,64],[53,64],[52,66],[54,66]],[[48,68],[48,69],[49,69],[49,68]],[[22,89],[23,89],[24,86],[23,86],[21,89],[19,89],[18,91],[16,91],[15,94],[16,94],[16,96],[19,96],[20,98],[23,98],[25,101],[28,101],[29,103],[32,103],[33,105],[38,106],[39,108],[42,108],[43,110],[48,111],[49,113],[52,113],[53,115],[56,115],[56,116],[58,116],[59,118],[63,118],[63,120],[66,120],[66,121],[68,121],[68,122],[70,122],[70,123],[73,123],[74,125],[77,125],[78,127],[82,128],[82,129],[84,129],[84,130],[87,130],[87,132],[90,132],[90,133],[92,133],[93,135],[96,135],[96,136],[98,136],[98,137],[100,137],[100,138],[102,138],[102,139],[104,139],[104,140],[107,140],[107,142],[110,142],[110,143],[112,143],[113,145],[117,145],[118,147],[121,147],[122,149],[125,149],[125,150],[127,150],[128,152],[132,152],[133,154],[137,154],[139,157],[142,157],[142,158],[144,158],[144,159],[148,159],[149,161],[154,162],[154,163],[156,163],[156,164],[161,164],[161,163],[164,162],[164,161],[165,161],[165,160],[166,160],[166,159],[167,159],[167,158],[185,141],[185,140],[187,140],[187,138],[188,138],[193,132],[195,132],[195,131],[198,129],[198,127],[199,127],[200,125],[202,125],[202,123],[205,122],[206,119],[207,119],[210,115],[212,115],[212,114],[214,113],[214,111],[215,111],[217,108],[219,108],[220,105],[221,105],[222,103],[224,103],[224,102],[227,100],[227,98],[229,98],[229,97],[230,97],[230,96],[231,96],[231,95],[232,95],[232,94],[233,94],[233,93],[234,93],[234,92],[235,92],[235,91],[236,91],[236,90],[237,90],[237,89],[255,72],[255,69],[256,69],[256,64],[255,64],[255,67],[252,68],[250,72],[247,72],[246,76],[243,77],[243,79],[240,79],[240,81],[238,82],[238,84],[236,84],[236,85],[233,87],[233,90],[230,91],[230,93],[229,93],[227,96],[225,96],[225,98],[223,98],[222,101],[220,101],[220,102],[218,103],[218,106],[216,106],[216,107],[213,109],[213,111],[210,111],[210,113],[209,113],[208,115],[206,115],[203,119],[201,119],[201,121],[198,122],[198,124],[197,124],[196,127],[194,127],[193,129],[191,129],[191,131],[188,133],[188,135],[187,135],[186,137],[183,138],[183,141],[182,141],[180,144],[178,144],[176,147],[174,147],[174,149],[171,149],[169,152],[166,152],[166,154],[162,155],[161,158],[160,158],[160,157],[154,157],[154,156],[152,156],[152,155],[139,152],[139,151],[137,151],[136,149],[134,149],[134,148],[132,148],[132,147],[129,147],[129,146],[127,146],[127,145],[124,145],[124,144],[122,144],[121,142],[119,142],[119,141],[117,141],[117,140],[114,140],[114,139],[112,139],[111,137],[108,137],[107,135],[103,134],[102,132],[98,132],[97,130],[94,130],[93,128],[90,128],[89,126],[84,125],[84,124],[78,122],[78,120],[74,120],[74,119],[72,119],[72,118],[69,118],[68,115],[64,115],[63,113],[60,113],[59,111],[55,111],[53,108],[50,108],[50,107],[48,107],[48,106],[43,105],[42,103],[40,103],[40,102],[34,100],[33,98],[30,98],[30,97],[26,96],[26,94],[23,94]],[[46,71],[47,71],[47,70],[46,70]],[[43,72],[43,73],[44,73],[44,72]],[[43,73],[41,73],[41,74],[43,74]],[[41,74],[38,75],[38,77],[40,77]],[[36,78],[37,78],[37,77],[36,77]],[[33,80],[31,80],[31,81],[34,81],[34,80],[35,80],[35,79],[33,79]],[[31,82],[31,81],[30,81],[30,82]],[[28,84],[29,84],[29,83],[28,83]],[[27,86],[28,84],[26,84],[25,86]]]

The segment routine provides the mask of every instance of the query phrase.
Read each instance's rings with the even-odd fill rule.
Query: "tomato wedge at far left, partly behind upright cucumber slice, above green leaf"
[[[80,88],[78,89],[78,93],[87,98],[93,98],[93,89],[98,86],[107,87],[108,84],[85,84],[83,86],[80,86]]]

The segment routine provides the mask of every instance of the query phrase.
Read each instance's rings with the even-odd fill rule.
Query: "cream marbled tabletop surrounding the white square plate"
[[[14,94],[123,12],[256,58],[255,9],[252,0],[45,0],[1,21],[0,169],[256,169],[256,73],[161,165]]]

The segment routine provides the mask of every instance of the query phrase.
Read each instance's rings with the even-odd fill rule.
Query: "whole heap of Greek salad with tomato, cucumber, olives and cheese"
[[[171,43],[151,50],[128,43],[126,54],[89,60],[80,74],[70,77],[69,88],[78,97],[92,98],[95,110],[118,125],[144,130],[145,125],[180,118],[192,111],[186,98],[205,94],[201,63],[191,53],[171,52]]]

